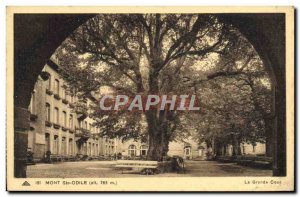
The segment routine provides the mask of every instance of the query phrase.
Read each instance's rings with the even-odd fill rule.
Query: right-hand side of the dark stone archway
[[[229,14],[221,20],[237,27],[253,45],[270,75],[273,88],[273,175],[286,175],[285,14]],[[277,124],[279,123],[279,124]]]

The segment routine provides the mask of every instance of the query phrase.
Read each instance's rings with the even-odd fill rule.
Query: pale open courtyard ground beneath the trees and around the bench
[[[115,161],[83,161],[28,166],[28,178],[104,178],[141,177],[147,175],[126,173],[116,169]],[[211,176],[272,176],[271,170],[239,166],[215,161],[187,161],[186,173],[161,173],[155,177],[211,177]]]

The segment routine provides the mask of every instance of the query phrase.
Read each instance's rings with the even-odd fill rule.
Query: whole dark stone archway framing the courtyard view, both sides
[[[66,37],[92,14],[14,15],[14,136],[15,177],[26,177],[27,110],[37,77]],[[285,16],[284,14],[219,14],[224,23],[234,25],[254,46],[272,76],[276,125],[274,142],[275,176],[286,175],[285,127]],[[280,123],[280,124],[277,124]],[[15,149],[16,150],[16,149]]]

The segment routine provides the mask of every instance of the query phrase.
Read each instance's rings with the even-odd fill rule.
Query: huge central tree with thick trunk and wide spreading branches
[[[79,27],[56,55],[70,89],[82,97],[103,89],[127,95],[194,94],[196,86],[187,83],[197,81],[191,75],[208,80],[236,74],[228,69],[236,64],[214,67],[234,53],[241,36],[236,32],[207,14],[100,14]],[[146,138],[153,160],[166,155],[169,141],[187,130],[186,112],[176,110],[95,110],[93,116],[103,135]]]

